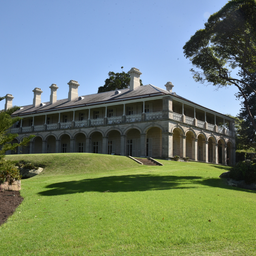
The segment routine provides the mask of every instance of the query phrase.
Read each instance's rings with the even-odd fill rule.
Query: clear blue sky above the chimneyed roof
[[[173,91],[202,106],[237,115],[235,87],[215,90],[196,83],[183,46],[226,0],[204,1],[1,1],[0,95],[14,105],[33,103],[35,87],[49,101],[68,97],[68,82],[79,95],[97,93],[108,72],[139,68],[143,84]],[[0,102],[0,109],[4,101]]]

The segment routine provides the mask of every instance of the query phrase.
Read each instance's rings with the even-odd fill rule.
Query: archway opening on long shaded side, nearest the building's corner
[[[159,127],[152,127],[146,134],[146,156],[161,157],[162,155],[162,131]]]

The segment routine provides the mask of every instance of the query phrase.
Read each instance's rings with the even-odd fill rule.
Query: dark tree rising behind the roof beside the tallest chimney
[[[98,93],[103,93],[105,91],[114,91],[129,88],[129,83],[131,80],[130,74],[109,72],[109,78],[105,80],[104,86],[98,88]],[[140,85],[142,86],[142,80],[140,80]]]

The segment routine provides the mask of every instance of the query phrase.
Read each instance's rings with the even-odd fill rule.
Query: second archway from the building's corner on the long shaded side
[[[138,129],[130,129],[126,137],[126,155],[132,157],[140,157],[140,131]]]

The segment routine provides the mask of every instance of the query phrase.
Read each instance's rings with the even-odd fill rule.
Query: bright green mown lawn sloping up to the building
[[[256,194],[218,178],[229,167],[79,153],[8,158],[45,170],[22,180],[24,200],[0,227],[0,255],[256,255]]]

